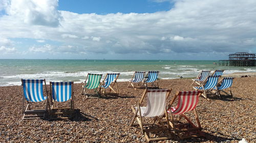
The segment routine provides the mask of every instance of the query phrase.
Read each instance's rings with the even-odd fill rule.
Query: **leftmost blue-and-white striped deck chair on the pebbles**
[[[43,92],[43,84],[45,83],[45,90],[47,96],[44,96]],[[45,118],[45,112],[49,108],[50,104],[48,100],[48,91],[46,88],[46,80],[45,79],[22,79],[23,85],[23,118],[25,119],[38,119],[38,118]],[[27,107],[25,107],[25,99],[27,101]],[[45,109],[31,109],[31,104],[33,102],[41,102],[46,100],[46,107]]]

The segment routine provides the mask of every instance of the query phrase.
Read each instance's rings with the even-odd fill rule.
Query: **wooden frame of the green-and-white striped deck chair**
[[[91,81],[90,81],[91,76],[99,76],[99,78],[96,79],[96,81],[92,81],[93,83],[91,83]],[[82,85],[81,95],[86,95],[86,98],[99,98],[100,97],[100,90],[101,90],[101,86],[100,86],[101,77],[102,77],[102,74],[88,73],[88,75],[86,77],[86,80],[84,81],[84,83]],[[87,79],[88,79],[88,83],[87,83]],[[97,97],[95,97],[94,95],[88,94],[87,91],[86,91],[87,87],[90,86],[91,84],[94,84],[94,82],[97,82],[95,84],[95,86],[93,86],[92,88],[89,88],[88,90],[94,90],[94,95],[97,95]]]

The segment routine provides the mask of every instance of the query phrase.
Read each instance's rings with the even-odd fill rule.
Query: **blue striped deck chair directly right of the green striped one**
[[[102,81],[102,85],[101,87],[103,88],[103,94],[105,94],[105,89],[110,88],[110,91],[113,91],[114,93],[118,93],[119,94],[119,89],[118,89],[118,85],[117,85],[117,78],[119,77],[120,73],[107,73],[105,78]],[[113,85],[111,86],[110,84],[113,83]],[[113,89],[114,85],[116,84],[116,90],[117,92]]]

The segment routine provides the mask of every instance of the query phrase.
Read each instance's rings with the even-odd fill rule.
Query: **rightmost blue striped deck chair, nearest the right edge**
[[[217,88],[214,88],[213,90],[217,90],[217,94],[219,95],[219,97],[221,96],[221,93],[220,91],[224,92],[225,94],[227,94],[224,90],[225,89],[229,89],[229,92],[230,92],[230,95],[232,95],[232,92],[231,92],[231,85],[233,83],[233,79],[234,77],[224,77],[220,82],[221,82],[221,85],[220,86],[217,86]],[[228,95],[228,94],[227,94]]]

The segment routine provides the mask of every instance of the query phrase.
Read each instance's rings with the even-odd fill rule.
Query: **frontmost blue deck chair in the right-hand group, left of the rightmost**
[[[216,88],[219,78],[220,76],[209,76],[207,78],[207,81],[205,81],[206,82],[205,85],[203,82],[199,87],[193,87],[193,88],[195,90],[203,90],[202,96],[207,100],[209,100],[207,98],[207,93],[209,93],[212,89]]]

